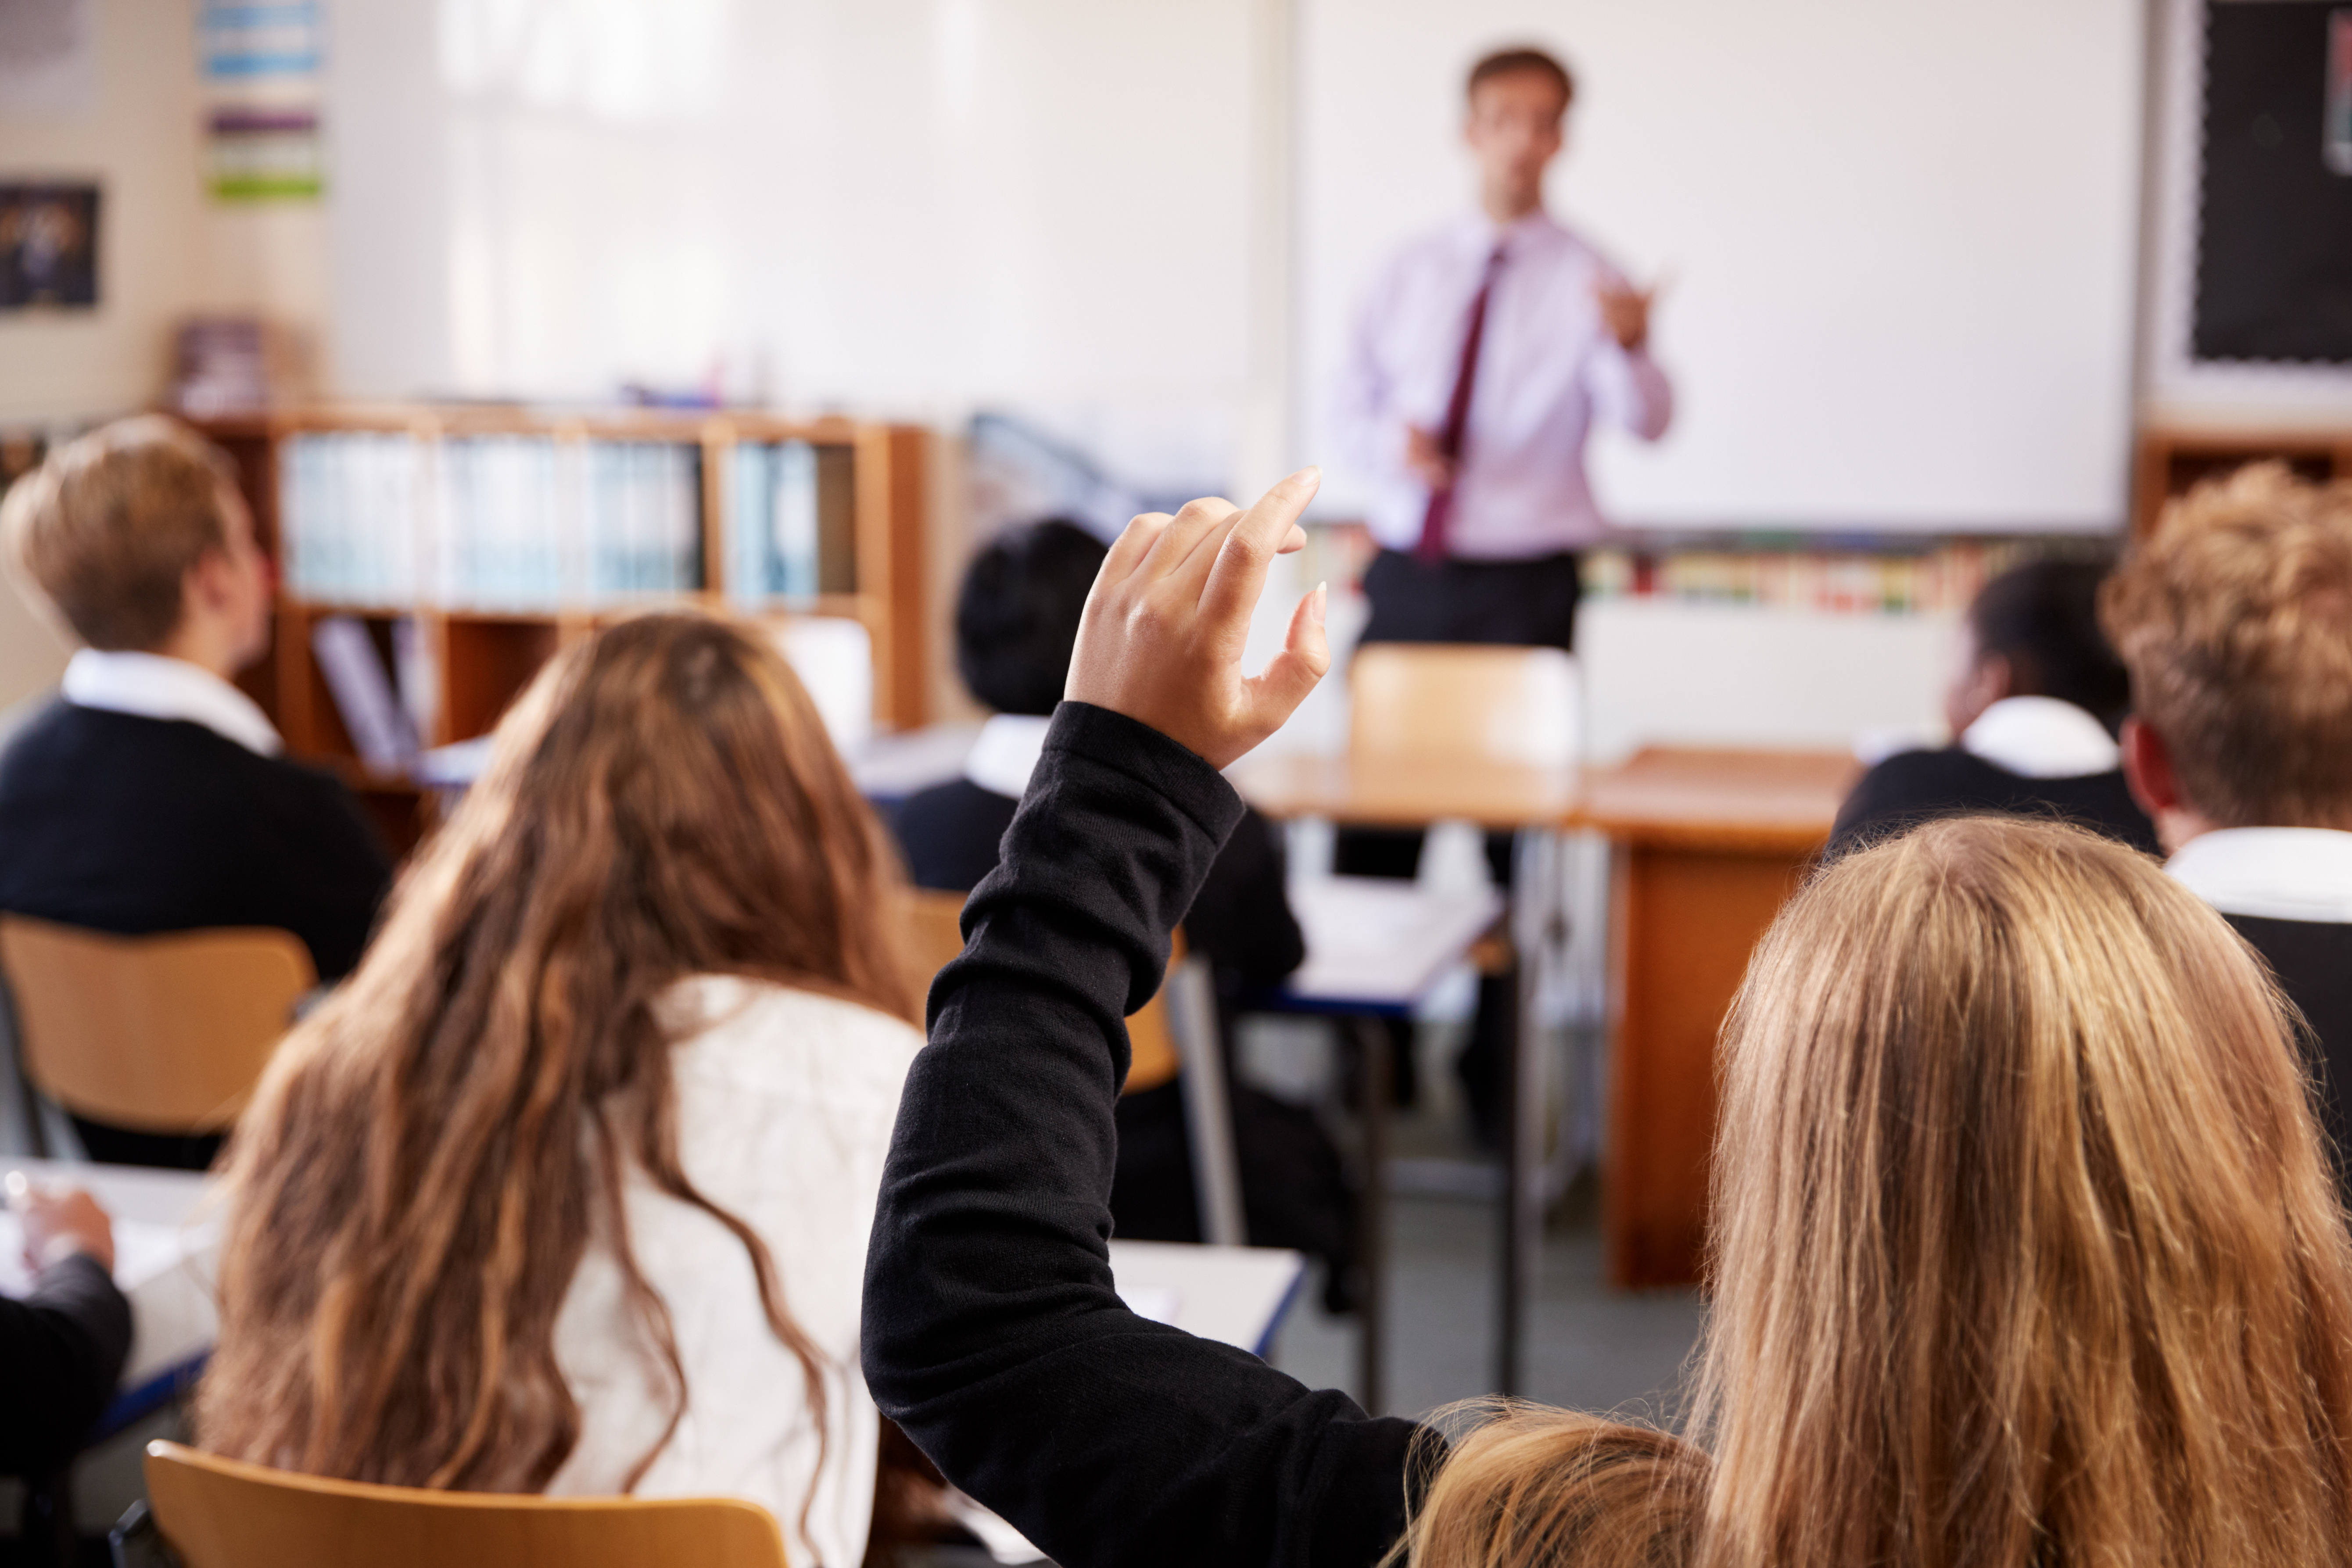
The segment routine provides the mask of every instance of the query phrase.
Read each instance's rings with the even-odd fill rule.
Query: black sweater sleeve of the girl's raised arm
[[[931,985],[866,1260],[866,1382],[1063,1568],[1362,1568],[1416,1427],[1134,1316],[1110,1286],[1124,1016],[1242,802],[1167,736],[1063,703]]]

